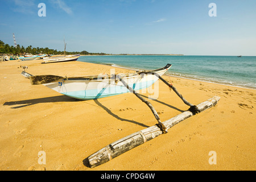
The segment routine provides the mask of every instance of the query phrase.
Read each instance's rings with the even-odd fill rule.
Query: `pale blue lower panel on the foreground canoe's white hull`
[[[155,80],[147,81],[147,82],[139,82],[138,84],[131,84],[129,85],[134,90],[141,90],[144,88],[148,88],[152,84],[154,84]],[[103,98],[103,97],[109,97],[109,96],[115,96],[122,93],[127,93],[129,90],[125,88],[125,86],[113,86],[113,87],[107,87],[100,90],[93,89],[93,90],[80,90],[75,92],[65,92],[61,93],[69,97],[77,98],[80,100],[93,100],[97,98]]]

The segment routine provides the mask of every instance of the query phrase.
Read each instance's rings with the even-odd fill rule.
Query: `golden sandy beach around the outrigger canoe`
[[[134,94],[81,101],[20,73],[85,76],[110,73],[109,65],[80,61],[41,64],[40,60],[0,62],[0,170],[255,170],[256,90],[164,76],[197,105],[220,96],[211,109],[186,119],[167,134],[90,168],[87,158],[115,140],[156,124],[151,110]],[[164,65],[159,65],[163,67]],[[115,73],[133,72],[114,68]],[[171,68],[172,69],[172,68]],[[166,121],[189,107],[159,81],[149,100]],[[148,96],[150,93],[143,93]],[[39,151],[46,164],[39,164]],[[216,164],[209,164],[210,151]]]

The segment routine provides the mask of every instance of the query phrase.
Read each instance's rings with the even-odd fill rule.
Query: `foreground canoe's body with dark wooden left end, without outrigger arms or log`
[[[170,69],[171,64],[166,67],[154,69],[149,72],[136,72],[127,74],[118,74],[118,76],[85,76],[85,77],[62,77],[55,75],[38,75],[33,76],[27,72],[22,75],[30,78],[32,85],[43,84],[50,89],[55,90],[65,96],[77,98],[80,100],[92,100],[102,97],[114,96],[117,94],[127,93],[129,89],[122,81],[125,81],[134,90],[148,88],[158,76],[162,76]],[[122,79],[122,81],[120,80]]]

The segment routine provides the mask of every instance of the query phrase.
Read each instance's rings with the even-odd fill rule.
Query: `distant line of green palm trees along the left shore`
[[[47,55],[64,55],[64,51],[57,51],[56,49],[49,49],[48,47],[46,48],[39,48],[39,47],[23,47],[17,44],[16,47],[14,46],[9,46],[9,44],[5,44],[0,40],[0,54],[12,54],[12,55],[24,55],[26,53],[31,53],[32,55],[38,55],[40,53],[42,54],[47,54]],[[65,51],[66,55],[106,55],[106,53],[91,53],[88,51],[73,51],[73,52],[68,52]]]

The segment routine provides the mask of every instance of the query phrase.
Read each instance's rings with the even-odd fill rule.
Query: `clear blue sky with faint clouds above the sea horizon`
[[[256,56],[255,0],[0,0],[0,7],[0,40],[10,46],[14,33],[20,46],[58,51],[65,37],[67,51]]]

